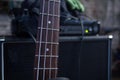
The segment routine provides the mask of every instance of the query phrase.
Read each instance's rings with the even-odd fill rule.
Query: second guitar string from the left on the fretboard
[[[47,12],[48,14],[49,14],[49,5],[50,5],[50,1],[48,0],[48,5],[47,5],[47,6],[48,6],[48,8],[47,8],[47,9],[48,9],[48,10],[47,10],[47,11],[48,11],[48,12]],[[47,39],[48,39],[48,20],[49,20],[49,16],[47,15],[47,29],[46,29],[46,36],[45,36],[45,37],[46,37],[46,42],[47,42]],[[46,49],[47,49],[47,43],[45,44],[44,68],[46,68],[46,54],[47,54],[47,50],[46,50]],[[46,71],[46,70],[43,69],[43,80],[45,80],[45,71]]]

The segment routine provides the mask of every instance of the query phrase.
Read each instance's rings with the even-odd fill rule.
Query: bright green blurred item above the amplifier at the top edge
[[[67,0],[67,2],[70,4],[72,10],[79,10],[81,12],[85,11],[85,8],[80,0]]]

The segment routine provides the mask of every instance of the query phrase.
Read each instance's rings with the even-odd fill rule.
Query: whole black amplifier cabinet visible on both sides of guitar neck
[[[1,41],[1,80],[33,80],[35,43]],[[111,80],[111,36],[60,36],[58,76],[70,80]]]

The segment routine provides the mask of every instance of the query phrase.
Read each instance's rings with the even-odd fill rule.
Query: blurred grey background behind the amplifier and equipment
[[[0,0],[0,36],[12,36],[11,21],[15,18],[11,9],[20,8],[24,0]],[[99,35],[113,35],[112,71],[114,77],[120,75],[120,0],[80,0],[85,14],[100,21]],[[104,29],[108,29],[106,32]],[[109,30],[110,29],[110,30]]]

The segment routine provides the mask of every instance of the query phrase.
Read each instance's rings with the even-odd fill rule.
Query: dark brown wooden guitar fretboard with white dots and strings
[[[34,80],[57,75],[60,0],[40,0]]]

